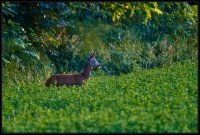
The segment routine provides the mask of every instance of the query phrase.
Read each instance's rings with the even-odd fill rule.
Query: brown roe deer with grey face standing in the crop
[[[90,72],[93,68],[98,68],[100,63],[95,58],[95,52],[90,54],[87,59],[85,69],[81,73],[75,74],[55,74],[46,80],[45,85],[48,87],[51,84],[55,86],[72,86],[82,85],[83,81],[89,79]]]

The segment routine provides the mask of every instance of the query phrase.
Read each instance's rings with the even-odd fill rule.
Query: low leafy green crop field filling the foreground
[[[3,132],[197,133],[197,62],[91,77],[81,87],[2,86]]]

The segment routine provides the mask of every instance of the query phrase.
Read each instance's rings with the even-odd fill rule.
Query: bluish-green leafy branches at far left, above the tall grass
[[[40,55],[35,48],[32,47],[32,43],[27,36],[27,31],[19,22],[14,20],[14,17],[18,15],[16,12],[17,6],[17,4],[12,4],[10,2],[2,3],[2,60],[3,68],[9,65],[16,65],[15,67],[23,70],[27,68],[25,66],[38,64]],[[12,71],[12,69],[10,71]]]

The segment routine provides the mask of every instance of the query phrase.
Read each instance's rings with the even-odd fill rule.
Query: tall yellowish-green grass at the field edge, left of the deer
[[[42,61],[37,64],[16,63],[15,61],[9,61],[8,64],[3,66],[2,81],[5,84],[20,85],[28,84],[32,82],[44,82],[44,80],[52,74],[49,61],[46,58],[42,58]]]

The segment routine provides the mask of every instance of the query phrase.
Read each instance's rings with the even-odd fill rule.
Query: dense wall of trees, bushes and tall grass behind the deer
[[[195,60],[197,19],[187,2],[3,2],[3,80],[81,71],[90,51],[98,75]]]

